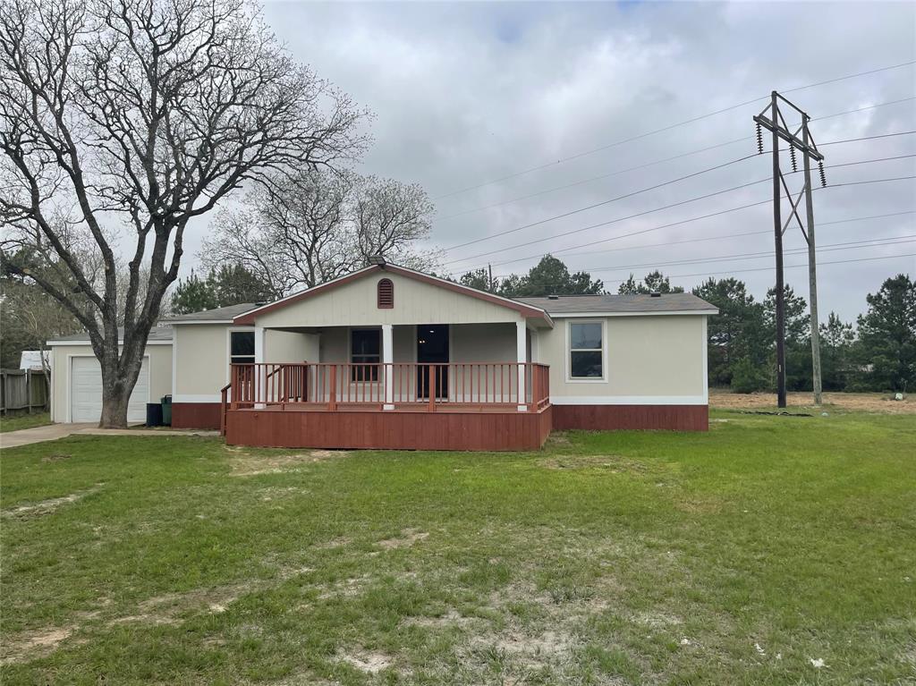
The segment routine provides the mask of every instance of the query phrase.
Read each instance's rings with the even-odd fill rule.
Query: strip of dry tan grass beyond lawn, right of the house
[[[789,408],[830,412],[831,408],[846,412],[878,412],[881,414],[916,414],[916,400],[905,397],[894,400],[881,393],[824,393],[823,406],[813,403],[811,393],[790,393],[786,397]],[[709,405],[725,409],[775,409],[776,396],[772,393],[730,393],[722,390],[709,392]]]

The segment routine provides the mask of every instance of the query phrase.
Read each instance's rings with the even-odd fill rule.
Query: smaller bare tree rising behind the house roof
[[[430,235],[432,210],[416,184],[306,169],[220,212],[201,259],[210,267],[243,265],[278,298],[365,267],[373,255],[429,269],[439,254],[416,244]]]

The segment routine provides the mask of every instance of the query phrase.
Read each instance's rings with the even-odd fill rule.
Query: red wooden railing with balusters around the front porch
[[[515,405],[537,411],[550,403],[549,372],[548,365],[530,362],[232,365],[226,402],[233,409],[312,404],[331,410],[388,405],[435,411],[445,405]]]

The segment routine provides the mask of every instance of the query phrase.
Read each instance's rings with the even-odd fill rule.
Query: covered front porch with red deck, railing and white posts
[[[223,389],[224,434],[284,447],[539,448],[550,381],[531,348],[525,321],[256,329],[255,361],[235,361]]]

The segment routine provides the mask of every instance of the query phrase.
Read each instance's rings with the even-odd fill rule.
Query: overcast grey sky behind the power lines
[[[612,145],[617,141],[766,97],[773,89],[916,60],[916,5],[911,3],[288,2],[268,4],[266,18],[299,60],[376,114],[374,144],[359,169],[419,182],[430,193],[437,208],[431,244],[447,251],[444,262],[453,275],[488,263],[495,275],[525,271],[552,252],[571,268],[604,279],[612,292],[630,271],[641,277],[658,266],[672,277],[733,272],[762,297],[773,283],[769,204],[562,250],[766,201],[772,187],[762,182],[612,222],[766,179],[769,155],[474,245],[454,246],[753,154],[751,117],[766,101]],[[913,65],[787,93],[812,115],[812,132],[822,146],[916,129],[914,96]],[[910,99],[818,120],[904,98]],[[580,156],[598,147],[605,148]],[[823,146],[822,152],[828,184],[836,186],[814,194],[821,223],[817,239],[824,248],[818,259],[823,320],[830,310],[851,319],[865,309],[865,294],[877,290],[884,278],[900,272],[916,276],[916,242],[829,248],[895,236],[916,241],[916,214],[836,222],[916,210],[916,184],[838,184],[913,176],[916,158],[829,167],[914,154],[916,135]],[[563,161],[573,156],[579,157]],[[542,165],[547,166],[518,174]],[[784,169],[791,169],[788,159]],[[792,189],[800,177],[791,178]],[[569,184],[575,185],[552,190]],[[518,200],[533,193],[539,194]],[[558,235],[597,223],[605,225]],[[723,237],[682,243],[711,236]],[[200,235],[191,236],[191,245],[199,240]],[[802,234],[791,228],[787,251],[803,245]],[[747,253],[765,255],[708,261]],[[879,256],[896,257],[826,264]],[[509,260],[517,261],[506,264]],[[665,264],[675,261],[685,263]],[[802,252],[787,253],[787,265],[805,263]],[[702,280],[672,278],[686,289]],[[805,269],[788,269],[787,280],[807,294]]]

